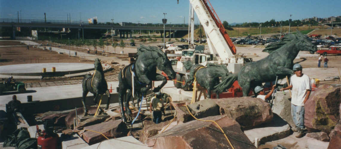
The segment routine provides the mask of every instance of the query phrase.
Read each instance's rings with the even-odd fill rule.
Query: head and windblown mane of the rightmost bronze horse
[[[300,51],[309,51],[311,54],[314,54],[317,51],[317,46],[313,45],[311,41],[307,38],[307,36],[303,35],[301,32],[296,30],[296,34],[287,34],[285,35],[280,42],[275,42],[268,45],[263,52],[271,53],[277,49],[285,48],[285,44],[291,43],[295,44],[296,48]]]

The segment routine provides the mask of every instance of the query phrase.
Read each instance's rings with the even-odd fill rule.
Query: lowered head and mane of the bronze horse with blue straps
[[[164,73],[167,74],[169,79],[174,79],[175,78],[175,72],[172,67],[172,62],[168,59],[167,54],[164,53],[162,50],[157,48],[156,46],[144,46],[141,45],[137,49],[137,56],[141,55],[142,52],[144,51],[151,51],[153,58],[156,61],[157,67],[159,70],[163,71]]]

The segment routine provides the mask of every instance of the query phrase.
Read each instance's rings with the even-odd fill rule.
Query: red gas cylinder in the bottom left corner
[[[52,133],[47,135],[45,132],[42,136],[37,138],[38,149],[57,149],[58,148],[59,135]]]

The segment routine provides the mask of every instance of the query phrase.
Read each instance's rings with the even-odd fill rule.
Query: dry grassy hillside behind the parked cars
[[[329,26],[328,26],[329,27]],[[330,29],[325,29],[327,28],[327,26],[291,26],[290,27],[290,31],[291,32],[296,32],[296,29],[298,29],[299,31],[305,31],[303,32],[303,34],[308,34],[309,32],[311,32],[310,34],[320,34],[323,36],[328,36],[330,35]],[[316,29],[314,31],[314,29]],[[198,33],[199,29],[196,29],[194,31],[194,33]],[[283,26],[282,27],[282,33],[287,33],[289,31],[289,26]],[[238,37],[238,36],[258,36],[260,29],[258,29],[258,27],[232,27],[232,30],[226,30],[227,34],[230,37]],[[262,27],[262,34],[261,35],[265,35],[265,34],[279,34],[281,32],[281,27]],[[332,35],[336,36],[341,36],[341,29],[333,29]],[[182,38],[188,38],[188,35],[183,36]],[[195,39],[199,38],[198,34],[194,35]]]

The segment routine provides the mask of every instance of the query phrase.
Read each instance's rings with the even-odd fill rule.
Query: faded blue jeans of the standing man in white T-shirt
[[[291,116],[297,128],[304,129],[304,106],[291,104]]]

